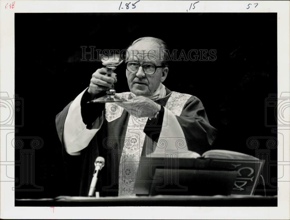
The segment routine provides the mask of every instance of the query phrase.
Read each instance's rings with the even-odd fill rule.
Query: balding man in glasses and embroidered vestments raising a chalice
[[[117,94],[126,102],[87,104],[116,82],[111,70],[101,68],[92,75],[89,87],[56,117],[64,148],[70,155],[81,156],[82,196],[88,194],[98,156],[106,160],[97,186],[101,196],[132,195],[141,156],[166,150],[202,153],[215,139],[216,130],[201,101],[162,84],[168,65],[166,44],[161,39],[142,37],[127,52],[126,77],[131,92]]]

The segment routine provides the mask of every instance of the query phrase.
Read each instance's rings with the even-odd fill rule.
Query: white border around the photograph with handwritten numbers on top
[[[14,8],[9,4],[14,3]],[[123,3],[130,1],[122,1]],[[135,2],[135,1],[134,1]],[[278,96],[290,91],[290,3],[289,1],[199,1],[195,9],[186,12],[196,1],[139,1],[136,8],[119,10],[120,1],[0,1],[0,89],[14,94],[14,13],[71,13],[71,12],[277,12]],[[8,3],[8,8],[7,8]],[[248,4],[252,4],[247,9]],[[254,3],[258,3],[254,7]],[[10,6],[11,7],[11,6]],[[279,106],[278,106],[279,108]],[[287,108],[284,112],[289,117]],[[2,112],[1,112],[1,116]],[[278,115],[279,117],[279,115]],[[1,128],[1,152],[6,149],[6,137]],[[10,127],[12,131],[14,127]],[[1,218],[3,219],[289,219],[290,217],[290,140],[289,127],[278,132],[278,207],[14,207],[14,182],[0,181]],[[283,149],[284,146],[284,149]],[[14,148],[7,149],[14,155]],[[283,154],[284,151],[284,154]],[[2,156],[1,156],[2,161]],[[2,163],[2,162],[1,162]],[[2,164],[1,164],[2,165]],[[281,166],[279,166],[281,165]],[[5,173],[4,173],[5,174]],[[1,179],[3,178],[1,172]],[[284,175],[284,176],[283,176]],[[288,175],[288,176],[285,176]],[[13,178],[13,177],[12,177]]]

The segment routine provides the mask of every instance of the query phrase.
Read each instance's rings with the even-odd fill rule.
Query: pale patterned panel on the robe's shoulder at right
[[[183,94],[179,92],[172,92],[171,96],[169,97],[166,108],[170,110],[174,115],[180,116],[183,106],[191,97],[189,94]]]

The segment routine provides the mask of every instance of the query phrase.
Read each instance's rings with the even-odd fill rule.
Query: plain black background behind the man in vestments
[[[276,13],[15,13],[15,94],[23,98],[16,124],[22,114],[24,122],[15,136],[43,139],[43,146],[33,151],[34,185],[24,183],[19,169],[23,164],[15,166],[16,198],[77,195],[81,165],[78,157],[68,155],[69,163],[64,163],[55,115],[102,67],[99,62],[80,61],[81,46],[121,50],[145,36],[163,39],[170,50],[217,51],[215,61],[171,62],[164,82],[170,90],[201,99],[219,131],[215,149],[255,156],[257,149],[249,148],[247,139],[260,137],[263,149],[267,138],[262,137],[277,137],[272,132],[274,111],[269,108],[265,113],[267,97],[277,94]],[[117,92],[128,91],[125,66],[115,72]],[[272,127],[265,126],[266,117]],[[273,148],[270,161],[277,160]],[[23,149],[30,149],[29,143]],[[23,160],[23,149],[15,150],[16,161]],[[277,184],[271,181],[277,176],[276,166],[265,169],[267,194],[276,194]],[[37,186],[43,190],[37,191]]]

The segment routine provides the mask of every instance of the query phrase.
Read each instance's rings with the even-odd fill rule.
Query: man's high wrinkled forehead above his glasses
[[[162,60],[159,56],[160,47],[157,43],[140,41],[128,49],[129,59],[158,61]]]

